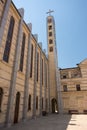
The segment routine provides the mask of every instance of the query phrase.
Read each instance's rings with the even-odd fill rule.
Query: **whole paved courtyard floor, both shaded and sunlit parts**
[[[0,130],[87,130],[87,115],[48,115]]]

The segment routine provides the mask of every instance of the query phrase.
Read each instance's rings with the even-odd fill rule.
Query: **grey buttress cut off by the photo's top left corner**
[[[10,4],[11,4],[11,0],[7,0],[6,5],[5,5],[5,9],[4,9],[4,12],[3,12],[2,20],[1,20],[0,47],[1,47],[1,43],[2,43],[3,33],[4,33],[4,29],[5,29],[5,25],[6,25],[6,21],[7,21],[7,17],[8,17],[8,11],[9,11],[9,8],[10,8]]]

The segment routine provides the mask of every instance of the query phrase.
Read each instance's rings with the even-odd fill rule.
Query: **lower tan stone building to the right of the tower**
[[[60,69],[64,113],[87,113],[87,59],[74,68]]]

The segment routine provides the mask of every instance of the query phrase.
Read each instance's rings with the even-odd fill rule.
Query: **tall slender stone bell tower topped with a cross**
[[[49,87],[50,87],[50,108],[51,112],[55,113],[60,111],[60,97],[58,94],[59,84],[59,71],[58,71],[58,58],[56,46],[56,32],[55,20],[51,13],[54,11],[49,10],[47,14],[47,42],[48,42],[48,62],[49,62]]]

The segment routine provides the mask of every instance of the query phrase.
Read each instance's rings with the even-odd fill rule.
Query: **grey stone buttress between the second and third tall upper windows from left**
[[[30,34],[28,36],[28,52],[27,52],[27,64],[26,64],[26,76],[25,76],[25,88],[24,88],[24,105],[23,105],[23,120],[27,119],[28,110],[28,96],[29,96],[29,76],[30,76],[30,55],[31,55],[31,30],[32,25],[28,24],[30,28]]]

